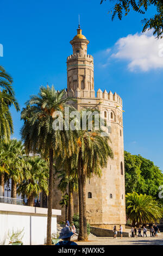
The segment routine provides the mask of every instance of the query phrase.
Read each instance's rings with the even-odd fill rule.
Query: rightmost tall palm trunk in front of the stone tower
[[[82,168],[82,194],[83,194],[83,226],[84,226],[84,239],[87,240],[87,222],[86,222],[86,174],[85,168]]]

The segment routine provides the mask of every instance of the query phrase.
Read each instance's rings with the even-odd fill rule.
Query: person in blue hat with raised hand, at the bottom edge
[[[62,241],[56,243],[56,245],[61,245],[61,246],[77,245],[77,243],[70,241],[72,235],[74,235],[74,233],[71,232],[68,227],[62,228],[60,230],[60,235],[59,235],[59,239],[62,239]]]

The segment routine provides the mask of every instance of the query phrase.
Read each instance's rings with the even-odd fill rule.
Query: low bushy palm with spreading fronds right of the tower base
[[[133,222],[133,227],[159,220],[162,217],[162,212],[159,203],[152,196],[136,192],[127,193],[126,214]]]

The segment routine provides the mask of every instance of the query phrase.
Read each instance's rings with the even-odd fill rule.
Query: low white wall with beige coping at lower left
[[[57,232],[57,215],[60,214],[60,210],[52,211],[52,233]],[[0,243],[5,240],[5,245],[8,245],[8,231],[23,228],[23,245],[45,244],[47,209],[0,203]]]

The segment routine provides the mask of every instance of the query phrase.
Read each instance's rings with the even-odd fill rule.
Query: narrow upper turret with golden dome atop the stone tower
[[[70,44],[73,54],[67,58],[67,90],[76,97],[95,97],[93,57],[87,54],[89,40],[80,26]]]

